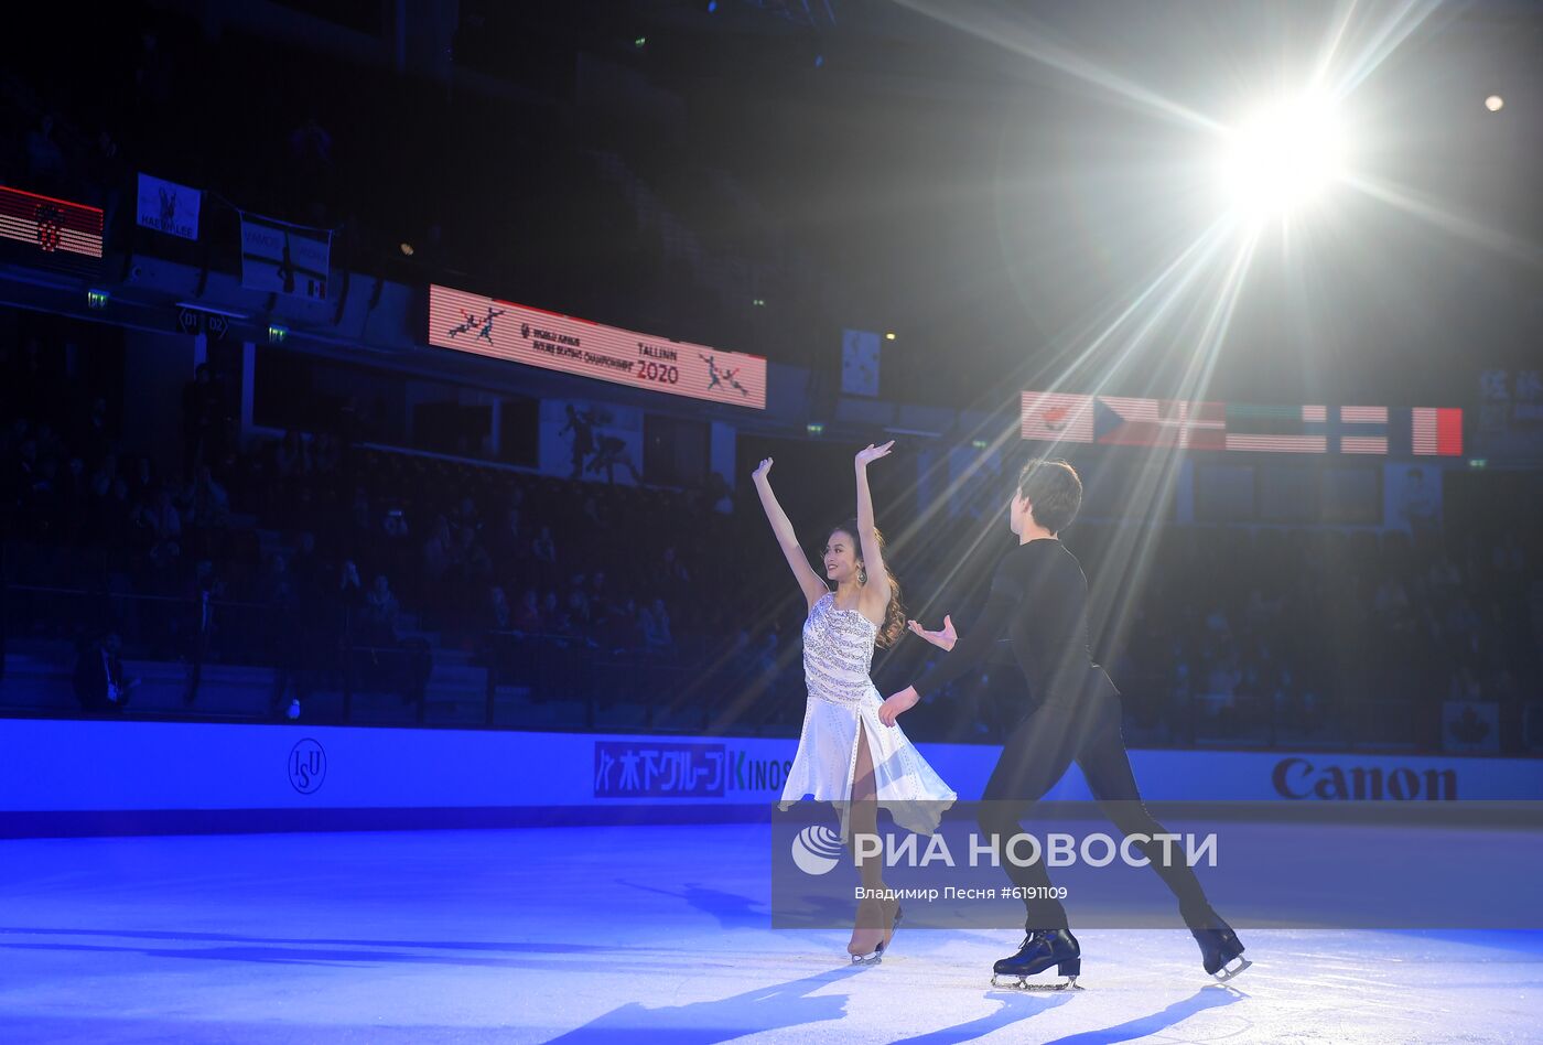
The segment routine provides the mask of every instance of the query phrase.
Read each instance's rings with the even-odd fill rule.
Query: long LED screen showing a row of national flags
[[[1262,406],[1025,392],[1021,424],[1023,438],[1048,443],[1254,454],[1463,454],[1463,411],[1437,406]]]

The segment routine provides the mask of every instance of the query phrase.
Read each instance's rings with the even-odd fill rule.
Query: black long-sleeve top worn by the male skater
[[[1003,631],[1037,699],[1069,704],[1099,684],[1114,692],[1088,647],[1088,577],[1060,540],[1031,540],[1001,557],[986,608],[954,650],[913,682],[917,693],[943,688],[978,665]]]

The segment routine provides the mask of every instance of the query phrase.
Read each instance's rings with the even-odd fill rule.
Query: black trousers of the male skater
[[[1060,900],[1043,898],[1051,877],[1043,858],[1018,866],[1008,860],[1008,840],[1023,830],[1021,820],[1045,793],[1055,786],[1066,769],[1077,763],[1088,780],[1088,789],[1100,810],[1126,837],[1154,838],[1168,834],[1159,824],[1136,790],[1131,759],[1120,735],[1120,698],[1108,676],[1099,679],[1075,702],[1046,702],[1031,712],[1001,749],[1001,758],[986,781],[978,821],[981,834],[995,835],[997,858],[1015,886],[1028,889],[1025,926],[1034,929],[1066,929],[1066,909]],[[1191,929],[1217,923],[1200,889],[1199,878],[1185,863],[1180,846],[1136,843],[1133,846],[1151,863],[1163,883],[1179,900],[1179,912]],[[1168,860],[1165,860],[1165,852]],[[1018,847],[1021,857],[1023,847]]]

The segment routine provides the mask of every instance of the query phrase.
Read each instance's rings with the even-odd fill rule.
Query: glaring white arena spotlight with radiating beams
[[[1325,99],[1308,96],[1278,102],[1233,128],[1219,176],[1231,205],[1258,219],[1310,204],[1342,164],[1339,122]]]

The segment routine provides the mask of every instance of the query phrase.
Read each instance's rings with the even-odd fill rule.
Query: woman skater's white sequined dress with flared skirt
[[[869,678],[875,637],[878,625],[856,610],[838,610],[835,594],[827,593],[809,611],[804,621],[809,704],[779,806],[787,809],[809,796],[835,803],[841,837],[847,837],[861,721],[873,758],[878,804],[906,830],[930,835],[958,795],[932,772],[900,725],[880,721],[884,699]]]

